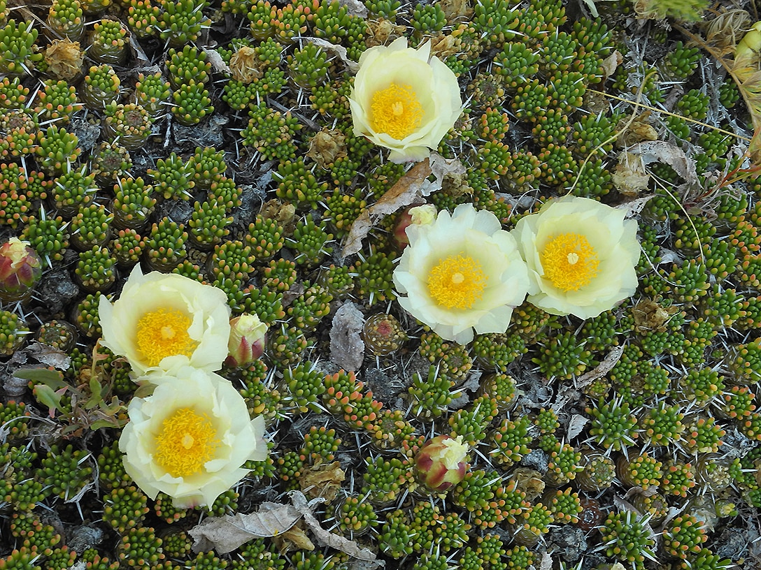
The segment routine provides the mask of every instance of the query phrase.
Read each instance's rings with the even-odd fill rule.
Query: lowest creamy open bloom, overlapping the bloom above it
[[[264,418],[250,420],[246,402],[214,372],[180,366],[150,372],[148,397],[133,397],[119,439],[124,468],[146,495],[159,491],[180,508],[212,505],[248,473],[246,461],[264,461]]]

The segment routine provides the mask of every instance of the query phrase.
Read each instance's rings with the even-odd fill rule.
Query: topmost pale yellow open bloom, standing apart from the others
[[[354,134],[389,148],[395,163],[428,157],[462,110],[457,77],[431,43],[409,48],[405,37],[362,52],[349,105]]]

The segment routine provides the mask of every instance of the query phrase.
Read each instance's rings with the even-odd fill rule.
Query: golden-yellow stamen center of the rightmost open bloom
[[[563,291],[578,291],[597,275],[597,253],[587,238],[562,233],[552,238],[541,253],[544,277]]]

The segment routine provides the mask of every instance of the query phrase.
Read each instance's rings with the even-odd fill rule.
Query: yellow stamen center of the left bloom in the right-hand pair
[[[481,264],[465,255],[452,255],[440,261],[428,276],[428,291],[447,309],[470,309],[486,289]]]

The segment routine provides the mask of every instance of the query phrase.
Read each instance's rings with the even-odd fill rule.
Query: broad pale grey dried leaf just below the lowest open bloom
[[[248,515],[209,517],[188,530],[196,553],[215,549],[226,554],[254,538],[274,537],[285,533],[301,518],[291,505],[264,502],[259,511]]]

